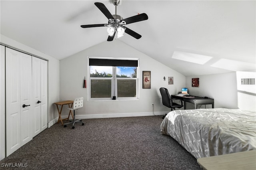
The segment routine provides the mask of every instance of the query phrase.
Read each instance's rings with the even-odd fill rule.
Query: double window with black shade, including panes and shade
[[[89,99],[138,99],[138,60],[89,58]]]

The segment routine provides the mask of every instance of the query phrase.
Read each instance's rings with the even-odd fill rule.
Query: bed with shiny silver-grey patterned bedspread
[[[240,109],[176,110],[161,134],[170,135],[195,158],[256,150],[256,112]]]

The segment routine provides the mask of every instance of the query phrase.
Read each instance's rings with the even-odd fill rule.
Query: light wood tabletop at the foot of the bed
[[[256,150],[198,158],[203,170],[255,170]]]

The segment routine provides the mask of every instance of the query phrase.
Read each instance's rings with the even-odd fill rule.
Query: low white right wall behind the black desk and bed
[[[199,78],[199,87],[192,87],[192,78]],[[244,101],[248,105],[252,105],[255,108],[255,91],[250,94],[250,99],[238,95],[236,72],[187,76],[186,87],[188,88],[190,95],[207,96],[213,98],[215,108],[252,110],[251,108],[243,107],[241,101]],[[190,107],[187,109],[193,108],[193,106],[189,103],[188,106]],[[201,108],[204,108],[204,106]],[[211,108],[211,105],[207,105],[206,108]]]

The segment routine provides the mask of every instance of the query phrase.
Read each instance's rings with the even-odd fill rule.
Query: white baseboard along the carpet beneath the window
[[[142,113],[108,113],[108,114],[90,114],[90,115],[76,115],[76,119],[100,119],[100,118],[115,118],[115,117],[140,117],[140,116],[160,116],[168,112],[142,112]],[[68,115],[62,116],[62,119],[67,118]],[[72,119],[72,118],[71,118]],[[48,123],[48,128],[58,122],[58,117]]]

